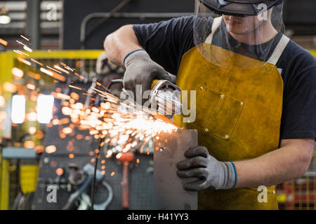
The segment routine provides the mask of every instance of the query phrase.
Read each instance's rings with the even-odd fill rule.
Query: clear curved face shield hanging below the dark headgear
[[[268,62],[284,32],[283,3],[254,6],[258,15],[219,14],[196,0],[194,41],[205,59],[225,69],[254,69]]]

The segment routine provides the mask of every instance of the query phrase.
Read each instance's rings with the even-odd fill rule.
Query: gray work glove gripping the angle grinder
[[[124,89],[131,90],[136,97],[136,94],[141,94],[145,90],[151,90],[152,80],[169,80],[171,77],[166,70],[156,62],[150,59],[150,56],[145,50],[131,52],[124,59],[126,71],[124,73]],[[136,92],[136,85],[142,85],[142,91]],[[143,99],[145,102],[146,99]],[[140,102],[138,102],[140,103]]]

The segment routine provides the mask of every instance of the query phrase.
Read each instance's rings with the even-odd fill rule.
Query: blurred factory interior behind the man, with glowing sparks
[[[96,160],[103,176],[97,181],[98,206],[122,209],[127,163],[129,209],[153,209],[152,130],[118,134],[115,125],[124,118],[115,117],[89,126],[97,114],[117,111],[121,83],[83,118],[85,106],[99,97],[91,83],[105,94],[110,80],[124,75],[123,67],[98,60],[107,34],[126,24],[192,15],[194,1],[14,0],[0,1],[0,10],[0,209],[65,209]],[[315,0],[287,0],[287,36],[316,57],[315,21]],[[121,152],[131,148],[132,160],[126,162]],[[46,200],[49,186],[58,187],[58,203]],[[308,172],[279,184],[276,194],[279,209],[316,209],[315,152]],[[76,207],[88,208],[90,197],[87,188]]]

